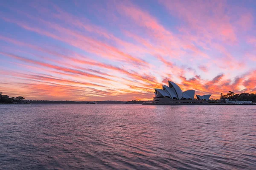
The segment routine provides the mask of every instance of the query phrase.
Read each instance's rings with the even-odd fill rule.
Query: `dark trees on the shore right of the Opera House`
[[[253,93],[235,94],[233,91],[228,91],[227,94],[225,95],[221,93],[220,100],[225,101],[225,99],[256,102],[256,94],[253,94]]]

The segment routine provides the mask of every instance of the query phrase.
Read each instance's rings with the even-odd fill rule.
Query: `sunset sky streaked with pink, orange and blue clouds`
[[[255,0],[2,0],[0,92],[31,100],[256,93]]]

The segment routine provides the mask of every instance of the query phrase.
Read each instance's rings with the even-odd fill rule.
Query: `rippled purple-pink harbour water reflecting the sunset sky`
[[[256,169],[256,106],[0,105],[0,169]]]

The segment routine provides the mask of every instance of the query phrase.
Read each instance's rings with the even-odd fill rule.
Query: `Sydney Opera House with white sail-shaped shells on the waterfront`
[[[204,96],[195,95],[194,90],[182,91],[174,82],[168,81],[163,89],[155,88],[155,97],[152,105],[204,105],[208,104],[211,94]],[[194,96],[197,99],[194,99]]]

